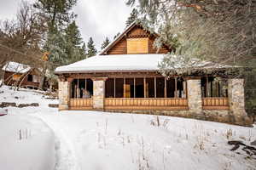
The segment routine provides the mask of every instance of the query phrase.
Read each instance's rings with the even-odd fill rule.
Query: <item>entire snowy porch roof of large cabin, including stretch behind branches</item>
[[[185,67],[192,68],[229,68],[230,65],[219,65],[210,61],[191,59],[186,62],[182,56],[173,55],[171,58],[166,54],[114,54],[96,55],[88,59],[75,62],[70,65],[57,67],[55,73],[64,72],[111,72],[111,71],[159,71],[159,64],[163,59],[170,59],[174,63],[172,69]],[[167,67],[170,65],[166,65]]]

